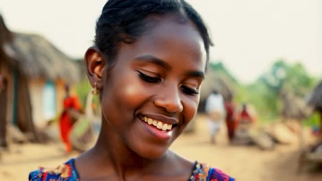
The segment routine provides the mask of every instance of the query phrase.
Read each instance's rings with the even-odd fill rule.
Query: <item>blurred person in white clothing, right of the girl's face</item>
[[[224,98],[217,90],[206,99],[206,113],[208,114],[208,126],[211,136],[211,143],[215,143],[215,136],[222,127],[222,122],[225,114]]]

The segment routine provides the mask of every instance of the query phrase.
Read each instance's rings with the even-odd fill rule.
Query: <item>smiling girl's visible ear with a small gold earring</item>
[[[85,53],[85,65],[87,68],[87,77],[92,87],[96,86],[98,90],[103,86],[103,68],[105,61],[103,61],[102,53],[98,47],[89,47]],[[96,84],[96,85],[95,85]]]

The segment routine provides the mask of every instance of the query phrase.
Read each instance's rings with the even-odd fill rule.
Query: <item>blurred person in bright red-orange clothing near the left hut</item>
[[[71,95],[69,85],[65,85],[66,97],[63,101],[63,113],[59,119],[59,127],[61,130],[61,139],[65,143],[66,152],[72,152],[72,143],[69,139],[69,133],[72,130],[72,126],[76,121],[74,113],[82,112],[81,101],[79,101],[77,95]]]

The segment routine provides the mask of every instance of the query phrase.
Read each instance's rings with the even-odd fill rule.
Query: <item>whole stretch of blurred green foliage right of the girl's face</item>
[[[257,81],[248,85],[240,84],[220,62],[211,63],[210,68],[230,77],[237,104],[253,104],[261,120],[279,117],[283,93],[292,93],[305,99],[317,83],[302,64],[288,64],[284,60],[277,60]]]

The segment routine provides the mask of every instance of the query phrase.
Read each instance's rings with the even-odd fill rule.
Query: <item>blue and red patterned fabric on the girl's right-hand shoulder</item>
[[[195,162],[195,166],[193,167],[189,181],[203,180],[234,181],[235,178],[231,178],[219,169],[215,169],[206,164]]]

